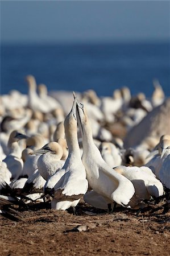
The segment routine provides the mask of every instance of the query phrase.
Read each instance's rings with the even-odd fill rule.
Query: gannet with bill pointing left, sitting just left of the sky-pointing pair
[[[44,147],[32,151],[31,155],[40,155],[37,167],[40,175],[48,180],[55,172],[64,166],[65,160],[61,160],[63,156],[63,148],[57,142],[49,142]]]

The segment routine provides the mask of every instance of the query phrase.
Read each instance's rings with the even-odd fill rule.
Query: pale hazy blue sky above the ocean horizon
[[[1,40],[167,40],[169,6],[169,1],[1,1]]]

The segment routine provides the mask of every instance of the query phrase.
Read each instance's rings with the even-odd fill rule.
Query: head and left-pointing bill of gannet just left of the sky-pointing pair
[[[63,148],[57,142],[49,142],[44,147],[38,150],[30,152],[30,155],[43,155],[46,153],[55,154],[59,156],[59,159],[63,156]]]

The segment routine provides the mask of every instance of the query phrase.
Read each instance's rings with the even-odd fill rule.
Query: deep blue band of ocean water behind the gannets
[[[157,78],[169,96],[169,43],[1,44],[1,94],[27,93],[28,74],[49,91],[94,89],[98,96],[128,86],[150,97]]]

